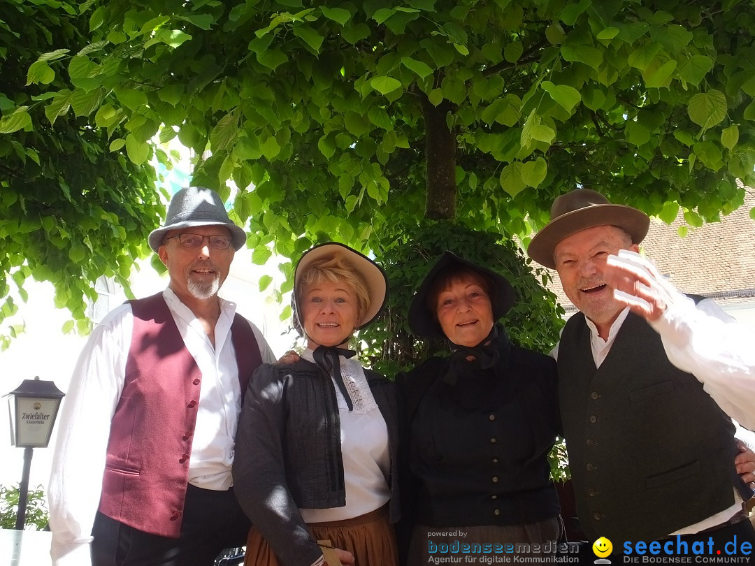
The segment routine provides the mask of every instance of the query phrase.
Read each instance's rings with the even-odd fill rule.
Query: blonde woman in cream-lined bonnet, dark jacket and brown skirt
[[[339,550],[344,563],[396,564],[395,389],[347,349],[386,297],[380,266],[345,245],[297,263],[291,304],[307,350],[254,372],[236,436],[233,487],[254,525],[245,564],[319,566],[328,547],[353,555]]]

